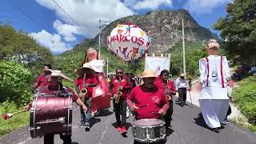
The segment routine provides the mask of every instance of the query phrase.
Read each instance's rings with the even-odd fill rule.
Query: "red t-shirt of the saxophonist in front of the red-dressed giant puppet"
[[[90,76],[90,77],[86,78],[86,83],[87,84],[97,84],[97,78]],[[77,78],[75,84],[77,86],[79,86],[79,90],[82,90],[83,78]],[[86,89],[87,89],[86,96],[92,97],[93,87],[88,86]]]

